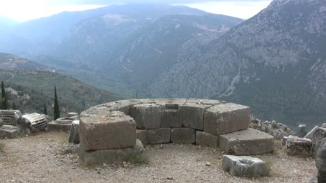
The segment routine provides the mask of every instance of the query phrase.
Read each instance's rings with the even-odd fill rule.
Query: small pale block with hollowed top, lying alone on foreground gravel
[[[261,159],[254,157],[236,157],[224,155],[222,167],[230,175],[238,177],[267,176],[269,169],[267,164]]]

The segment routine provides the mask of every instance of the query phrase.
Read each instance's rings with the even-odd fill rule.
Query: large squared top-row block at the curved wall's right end
[[[205,111],[203,131],[208,134],[228,134],[249,127],[250,108],[239,104],[217,104]]]

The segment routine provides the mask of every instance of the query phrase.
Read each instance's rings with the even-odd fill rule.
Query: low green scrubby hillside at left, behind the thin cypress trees
[[[62,115],[121,99],[119,95],[98,90],[77,79],[54,72],[0,70],[0,80],[4,81],[10,104],[15,103],[17,109],[23,113],[43,113],[43,106],[46,104],[47,112],[52,116],[54,86]]]

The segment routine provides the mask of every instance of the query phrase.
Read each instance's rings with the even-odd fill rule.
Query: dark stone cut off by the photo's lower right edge
[[[316,167],[318,169],[318,183],[326,182],[326,143],[316,153]]]

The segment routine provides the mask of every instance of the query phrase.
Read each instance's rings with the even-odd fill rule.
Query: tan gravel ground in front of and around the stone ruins
[[[196,145],[150,145],[149,164],[79,165],[78,146],[68,134],[40,133],[0,140],[0,182],[308,182],[316,177],[313,159],[287,157],[280,143],[272,154],[258,156],[269,164],[269,177],[231,177],[222,170],[222,152]],[[207,165],[210,164],[210,166]]]

